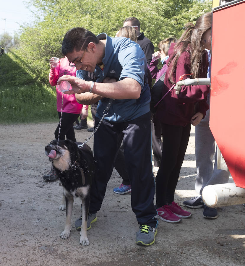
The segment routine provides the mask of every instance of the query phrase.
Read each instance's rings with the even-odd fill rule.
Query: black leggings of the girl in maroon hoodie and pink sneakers
[[[156,207],[171,204],[189,141],[191,124],[162,124],[163,154],[156,177]]]

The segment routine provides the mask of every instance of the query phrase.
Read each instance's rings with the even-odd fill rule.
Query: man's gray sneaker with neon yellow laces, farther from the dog
[[[139,226],[139,231],[136,233],[136,244],[150,246],[155,242],[157,229],[151,226],[142,224]]]

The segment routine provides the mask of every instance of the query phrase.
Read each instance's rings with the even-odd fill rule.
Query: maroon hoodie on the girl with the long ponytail
[[[171,59],[175,44],[176,43],[172,43],[169,48],[168,55],[170,57],[167,60],[167,64]],[[181,75],[191,73],[190,53],[188,48],[186,50],[187,51],[184,51],[178,59],[176,72],[174,72],[173,76],[175,83],[179,81]],[[206,51],[203,53],[202,61],[203,65],[198,78],[207,78],[208,60]],[[168,81],[168,76],[169,69],[167,69],[166,72],[162,95],[165,95],[173,86],[173,84]],[[186,78],[192,78],[192,76],[186,76],[184,80]],[[194,113],[200,112],[205,116],[209,108],[206,103],[208,93],[209,86],[206,85],[181,86],[179,95],[172,89],[159,103],[156,117],[164,124],[186,126],[190,124],[190,120]],[[196,108],[196,106],[198,107]]]

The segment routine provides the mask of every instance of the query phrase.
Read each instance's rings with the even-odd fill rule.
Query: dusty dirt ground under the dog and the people
[[[245,207],[218,208],[218,219],[207,220],[202,209],[192,218],[171,224],[159,221],[155,244],[134,243],[138,224],[131,210],[130,194],[118,195],[121,184],[114,170],[98,221],[88,231],[90,245],[79,245],[74,222],[80,215],[80,202],[74,201],[71,237],[61,239],[64,211],[59,181],[47,183],[43,174],[50,163],[44,147],[53,139],[56,124],[1,125],[0,151],[0,265],[244,265]],[[78,141],[90,133],[76,132]],[[88,142],[93,148],[93,138]],[[175,201],[195,196],[196,177],[194,128],[186,152]],[[232,179],[231,179],[232,181]]]

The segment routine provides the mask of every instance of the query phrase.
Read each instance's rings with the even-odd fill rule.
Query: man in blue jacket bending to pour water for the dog
[[[153,204],[150,88],[144,52],[128,38],[111,38],[106,33],[95,36],[84,28],[73,28],[64,37],[62,53],[77,68],[77,77],[62,76],[58,84],[62,80],[69,81],[72,90],[67,93],[76,93],[79,103],[91,104],[99,100],[95,128],[106,114],[94,135],[97,165],[87,228],[97,220],[96,213],[102,205],[123,140],[132,188],[131,205],[140,225],[136,243],[151,245],[158,221],[154,218],[157,212]],[[81,227],[81,219],[75,222],[77,229]]]

